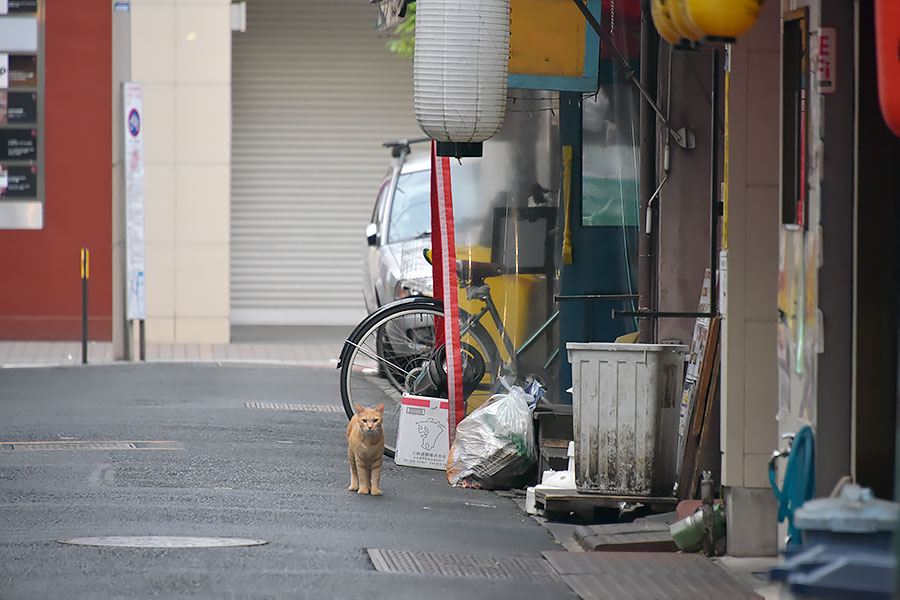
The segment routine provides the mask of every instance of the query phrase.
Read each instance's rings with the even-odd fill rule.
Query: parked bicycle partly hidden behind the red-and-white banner
[[[426,260],[429,257],[426,255]],[[429,260],[430,262],[430,260]],[[494,303],[485,279],[508,274],[500,263],[457,261],[460,288],[469,300],[479,300],[482,308],[475,314],[460,309],[460,346],[463,368],[463,398],[468,404],[472,394],[485,398],[497,391],[500,377],[538,380],[544,387],[553,379],[551,367],[556,363],[555,348],[543,366],[527,375],[520,373],[520,358],[542,335],[551,331],[559,317],[555,312],[519,348],[516,348]],[[491,317],[499,333],[504,361],[494,338],[482,324]],[[375,406],[385,403],[384,452],[393,457],[396,449],[400,403],[404,394],[416,394],[428,388],[425,395],[435,395],[435,386],[446,377],[443,344],[437,344],[436,320],[444,316],[443,302],[427,296],[403,298],[386,304],[366,317],[348,336],[341,349],[337,368],[341,370],[341,400],[348,418],[355,414],[354,405]]]

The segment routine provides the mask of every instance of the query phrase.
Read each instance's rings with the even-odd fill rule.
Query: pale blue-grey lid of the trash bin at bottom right
[[[794,513],[798,529],[841,533],[893,531],[900,519],[900,504],[879,500],[870,488],[848,483],[837,498],[809,500]]]

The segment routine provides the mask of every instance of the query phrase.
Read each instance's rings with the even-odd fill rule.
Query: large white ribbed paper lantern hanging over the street
[[[509,0],[418,0],[416,120],[439,142],[493,136],[506,112]]]

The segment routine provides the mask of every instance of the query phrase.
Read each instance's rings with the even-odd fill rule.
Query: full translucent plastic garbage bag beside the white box
[[[495,394],[460,421],[447,459],[453,486],[489,490],[523,487],[534,480],[537,451],[529,404],[519,386]]]

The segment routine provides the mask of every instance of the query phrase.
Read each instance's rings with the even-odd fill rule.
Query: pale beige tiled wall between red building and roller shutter
[[[144,87],[147,341],[229,340],[229,0],[132,0]]]

